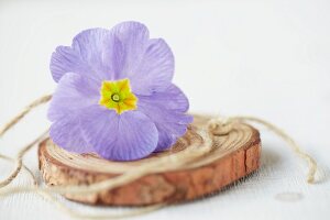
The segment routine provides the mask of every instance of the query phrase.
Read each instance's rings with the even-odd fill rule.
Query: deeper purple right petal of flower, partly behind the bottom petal
[[[156,151],[173,145],[186,133],[187,124],[193,122],[193,117],[185,113],[189,108],[188,99],[175,85],[170,85],[164,92],[138,98],[138,110],[150,117],[158,130]]]

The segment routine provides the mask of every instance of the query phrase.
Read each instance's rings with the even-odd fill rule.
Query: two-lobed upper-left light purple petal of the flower
[[[69,72],[98,81],[113,80],[122,72],[123,62],[121,42],[109,30],[90,29],[75,36],[72,47],[56,48],[51,70],[55,81]]]

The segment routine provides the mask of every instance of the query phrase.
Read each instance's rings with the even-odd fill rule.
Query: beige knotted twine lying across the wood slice
[[[34,108],[46,103],[52,99],[52,95],[41,97],[40,99],[36,99],[31,105],[25,107],[22,112],[20,112],[16,117],[14,117],[9,123],[7,123],[1,130],[0,130],[0,138],[9,131],[13,125],[15,125],[21,119],[23,119],[31,110]],[[123,186],[125,184],[129,184],[131,182],[134,182],[135,179],[139,179],[145,175],[154,174],[154,173],[161,173],[161,172],[168,172],[168,170],[175,170],[180,169],[184,167],[187,167],[187,165],[191,162],[198,162],[198,160],[201,160],[204,156],[206,156],[208,153],[210,153],[213,150],[212,146],[212,136],[213,135],[226,135],[229,132],[231,132],[234,127],[234,123],[242,123],[242,122],[254,122],[257,124],[262,124],[268,130],[273,131],[275,134],[277,134],[279,138],[282,138],[285,142],[287,142],[288,146],[293,150],[293,152],[305,160],[308,163],[308,174],[307,174],[307,182],[309,184],[312,184],[315,182],[315,174],[317,172],[317,164],[316,161],[305,153],[301,147],[284,131],[275,127],[274,124],[262,120],[260,118],[255,117],[243,117],[243,116],[237,116],[237,117],[230,117],[230,118],[213,118],[209,120],[206,128],[202,128],[200,131],[198,131],[198,134],[202,138],[204,142],[200,144],[193,144],[188,148],[183,150],[180,154],[170,154],[168,156],[161,157],[156,160],[153,163],[142,164],[136,167],[132,167],[130,170],[122,173],[121,175],[113,177],[111,179],[102,180],[96,184],[91,184],[88,186],[54,186],[54,187],[42,187],[38,185],[38,182],[34,174],[24,165],[23,163],[23,156],[31,150],[33,146],[37,145],[40,142],[42,142],[45,138],[48,136],[48,129],[43,132],[37,139],[35,139],[33,142],[29,143],[24,147],[22,147],[19,153],[16,154],[15,158],[10,158],[6,155],[0,154],[0,158],[12,161],[15,163],[14,168],[12,169],[11,174],[4,179],[0,182],[0,196],[9,196],[22,191],[30,191],[30,193],[37,193],[38,195],[43,196],[44,198],[48,199],[51,202],[53,202],[56,207],[58,207],[62,211],[65,211],[69,216],[74,218],[79,219],[122,219],[133,216],[141,216],[146,212],[151,212],[153,210],[160,209],[164,206],[167,206],[168,204],[160,204],[160,205],[152,205],[146,206],[143,208],[136,208],[134,210],[128,211],[125,213],[120,215],[112,215],[112,216],[90,216],[90,215],[84,215],[79,213],[77,211],[74,211],[69,208],[67,208],[64,204],[59,202],[53,194],[79,194],[79,195],[88,195],[92,193],[98,193],[102,190],[111,190],[116,187]],[[217,157],[216,157],[217,160]],[[211,163],[211,162],[209,162]],[[200,164],[202,166],[204,164]],[[7,187],[13,179],[16,178],[16,176],[20,174],[20,172],[24,169],[26,170],[32,180],[33,186],[20,186],[20,187]],[[4,188],[6,187],[6,188]],[[2,189],[1,189],[2,188]]]

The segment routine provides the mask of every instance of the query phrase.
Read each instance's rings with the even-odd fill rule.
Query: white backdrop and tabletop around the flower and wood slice
[[[274,122],[315,156],[322,179],[307,185],[305,164],[262,129],[258,173],[215,197],[141,219],[329,219],[329,11],[326,0],[0,0],[0,124],[54,90],[48,63],[57,45],[69,45],[84,29],[138,20],[172,46],[175,82],[189,97],[191,111],[253,114]],[[0,141],[0,153],[13,156],[41,133],[48,125],[45,110],[40,108],[10,131]],[[35,151],[25,161],[37,172]],[[11,167],[0,161],[0,177]],[[30,182],[22,174],[14,184]],[[279,199],[283,193],[295,193],[294,198]],[[86,212],[118,212],[67,204]],[[38,196],[21,194],[0,199],[0,219],[69,218]]]

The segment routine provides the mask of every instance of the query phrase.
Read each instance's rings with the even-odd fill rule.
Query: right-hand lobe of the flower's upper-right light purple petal
[[[174,75],[174,56],[162,38],[150,40],[143,58],[131,76],[132,90],[139,95],[163,91]]]

